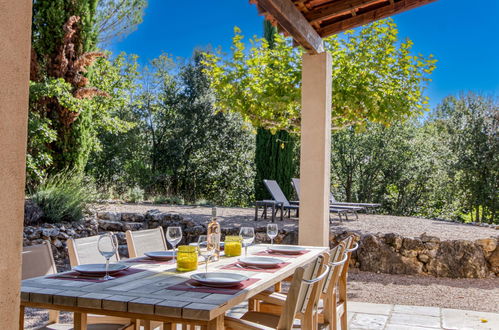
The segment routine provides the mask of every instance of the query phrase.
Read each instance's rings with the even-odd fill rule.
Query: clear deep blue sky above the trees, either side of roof
[[[427,91],[432,106],[460,91],[499,95],[498,17],[498,0],[439,0],[394,16],[414,52],[438,59]],[[144,22],[111,50],[137,54],[141,63],[163,52],[189,57],[197,47],[228,51],[234,26],[261,35],[262,20],[248,0],[149,0]]]

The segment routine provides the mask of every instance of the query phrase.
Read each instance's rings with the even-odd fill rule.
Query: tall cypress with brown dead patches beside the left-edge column
[[[75,98],[99,95],[85,88],[87,67],[103,55],[94,52],[97,4],[98,0],[34,0],[30,80],[51,83],[62,78],[71,84]],[[57,132],[57,139],[47,146],[53,155],[52,170],[83,171],[93,143],[92,111],[70,111],[55,97],[40,99],[30,111],[49,118]]]

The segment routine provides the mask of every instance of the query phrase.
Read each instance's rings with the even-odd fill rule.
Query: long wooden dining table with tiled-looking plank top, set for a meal
[[[224,315],[292,275],[297,267],[313,261],[325,247],[305,247],[300,255],[268,253],[269,245],[253,245],[248,256],[268,255],[284,261],[278,269],[240,268],[239,257],[221,257],[210,262],[209,272],[246,275],[242,289],[197,287],[186,282],[196,271],[177,272],[174,263],[154,262],[145,258],[123,260],[129,263],[129,275],[107,281],[57,278],[48,275],[22,281],[21,306],[74,312],[74,328],[86,329],[85,314],[101,314],[173,324],[199,325],[202,329],[223,329]],[[243,252],[244,255],[244,252]],[[201,258],[202,259],[202,258]]]

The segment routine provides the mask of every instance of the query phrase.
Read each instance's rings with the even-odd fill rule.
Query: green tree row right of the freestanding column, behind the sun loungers
[[[388,214],[497,222],[497,113],[497,101],[470,93],[447,97],[422,122],[338,130],[332,190]]]

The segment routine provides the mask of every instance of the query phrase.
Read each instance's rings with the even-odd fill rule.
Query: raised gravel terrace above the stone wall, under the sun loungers
[[[209,221],[211,208],[199,206],[165,206],[154,204],[107,204],[96,205],[98,210],[114,212],[146,212],[150,209],[158,209],[162,212],[180,214],[184,218],[195,222]],[[225,227],[241,226],[247,221],[254,221],[255,210],[253,208],[219,208],[220,224]],[[261,214],[260,214],[261,215]],[[255,222],[257,226],[263,226],[268,220],[259,219]],[[286,219],[277,222],[286,227],[296,226],[297,218]],[[356,231],[359,234],[367,233],[397,233],[406,237],[419,237],[426,233],[437,236],[442,240],[467,239],[499,236],[499,230],[485,228],[461,223],[429,220],[414,217],[398,217],[391,215],[359,214],[359,220],[339,222],[333,221],[331,229],[334,231]]]

